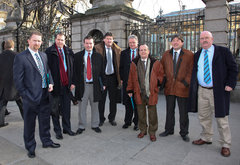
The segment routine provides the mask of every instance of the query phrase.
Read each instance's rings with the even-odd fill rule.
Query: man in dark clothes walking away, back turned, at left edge
[[[13,61],[16,53],[13,40],[4,43],[5,50],[0,54],[0,127],[8,125],[4,122],[5,110],[8,101],[16,101],[23,117],[22,99],[13,83]]]

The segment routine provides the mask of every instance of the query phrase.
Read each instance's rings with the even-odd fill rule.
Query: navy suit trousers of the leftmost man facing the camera
[[[48,89],[43,89],[40,104],[35,104],[27,98],[23,98],[24,109],[24,143],[25,148],[33,152],[36,148],[34,138],[36,117],[38,117],[39,135],[44,145],[52,144],[50,135],[50,103],[48,98]]]

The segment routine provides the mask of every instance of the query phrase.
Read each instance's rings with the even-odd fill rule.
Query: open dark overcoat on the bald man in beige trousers
[[[198,80],[197,63],[201,54],[199,50],[194,55],[194,64],[189,92],[189,112],[197,112]],[[237,82],[237,64],[228,48],[214,45],[214,56],[212,61],[212,79],[215,117],[229,115],[230,92],[225,91],[225,86],[233,89]]]

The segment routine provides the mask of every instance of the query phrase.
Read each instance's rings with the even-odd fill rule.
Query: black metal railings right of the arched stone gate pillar
[[[240,4],[231,4],[229,12],[228,46],[234,55],[239,55],[240,47]],[[184,48],[196,52],[200,48],[200,33],[204,30],[205,9],[172,12],[156,18],[156,22],[126,23],[126,35],[135,34],[140,43],[150,47],[151,54],[161,58],[170,49],[171,37],[181,34]],[[127,45],[126,45],[127,46]]]

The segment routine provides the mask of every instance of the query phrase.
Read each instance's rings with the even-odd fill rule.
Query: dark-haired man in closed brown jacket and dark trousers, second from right
[[[180,116],[179,134],[184,141],[189,142],[187,100],[189,94],[189,84],[192,76],[193,53],[182,48],[184,41],[180,35],[174,35],[171,43],[172,49],[164,52],[161,59],[164,75],[166,76],[164,94],[166,96],[167,112],[165,131],[160,133],[160,136],[165,137],[174,133],[174,114],[177,101]]]

